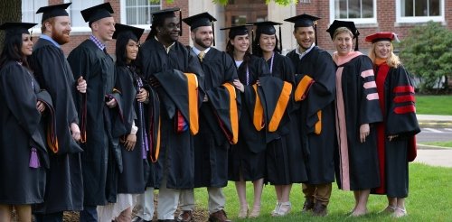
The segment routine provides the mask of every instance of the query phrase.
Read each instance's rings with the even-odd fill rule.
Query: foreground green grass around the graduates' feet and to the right
[[[452,169],[444,167],[431,167],[421,163],[410,163],[410,195],[406,199],[406,208],[409,216],[397,221],[450,221],[452,210]],[[271,217],[270,212],[275,207],[276,198],[274,188],[266,186],[262,194],[261,213],[256,219],[238,219],[240,204],[233,182],[224,189],[226,196],[225,210],[233,221],[396,221],[389,216],[378,214],[387,205],[387,199],[381,195],[371,195],[368,203],[370,214],[364,217],[346,217],[347,212],[353,208],[354,199],[352,191],[334,189],[328,207],[327,217],[311,217],[301,214],[304,197],[301,194],[301,185],[295,184],[292,188],[290,200],[292,211],[287,217]],[[252,185],[247,186],[250,208],[252,208]],[[196,205],[198,208],[207,208],[206,189],[195,190]]]

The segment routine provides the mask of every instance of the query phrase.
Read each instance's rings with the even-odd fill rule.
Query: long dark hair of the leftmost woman
[[[27,56],[21,51],[23,44],[22,33],[12,32],[5,34],[4,48],[2,54],[0,54],[0,68],[2,68],[6,62],[14,60],[22,62],[22,65],[26,69],[32,70],[28,64]]]

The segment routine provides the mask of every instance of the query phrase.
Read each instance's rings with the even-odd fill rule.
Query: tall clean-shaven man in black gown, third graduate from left
[[[120,118],[120,94],[115,87],[115,63],[106,51],[106,43],[115,31],[113,9],[109,3],[80,12],[89,23],[91,35],[68,56],[74,79],[88,83],[86,94],[75,95],[81,132],[81,170],[84,201],[80,220],[97,219],[96,206],[116,201],[120,171],[118,139],[111,136],[111,122]],[[119,105],[119,106],[118,106]]]

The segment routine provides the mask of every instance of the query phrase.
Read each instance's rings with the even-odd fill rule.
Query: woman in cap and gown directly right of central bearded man
[[[239,79],[233,84],[241,92],[239,142],[231,146],[229,153],[229,180],[235,181],[237,194],[240,199],[239,217],[248,217],[248,203],[246,199],[246,181],[252,181],[254,186],[254,206],[260,208],[265,177],[266,146],[265,130],[258,131],[253,125],[253,107],[245,103],[251,100],[247,95],[255,95],[259,77],[268,76],[269,69],[264,59],[250,54],[250,36],[247,26],[240,25],[229,29],[229,40],[226,52],[235,61]],[[254,87],[253,87],[254,86]]]

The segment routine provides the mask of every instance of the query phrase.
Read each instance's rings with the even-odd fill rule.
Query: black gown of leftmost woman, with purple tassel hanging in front
[[[42,203],[46,168],[45,116],[36,109],[39,84],[33,75],[16,61],[0,69],[0,204]],[[47,96],[50,98],[49,94]],[[52,105],[52,101],[46,101]],[[49,108],[46,107],[47,111]],[[30,167],[32,147],[41,166]]]

